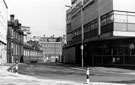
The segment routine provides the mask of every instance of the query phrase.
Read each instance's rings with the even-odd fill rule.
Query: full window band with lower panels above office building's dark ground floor
[[[112,23],[115,23],[113,26]],[[117,24],[118,23],[118,24]],[[135,13],[111,11],[100,17],[101,34],[113,30],[135,31]],[[84,39],[98,35],[98,18],[84,25]],[[81,27],[72,31],[72,42],[81,40]]]

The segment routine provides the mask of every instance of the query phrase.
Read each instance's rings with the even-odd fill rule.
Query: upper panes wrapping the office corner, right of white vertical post
[[[112,11],[101,16],[101,26],[107,25],[112,22],[119,23],[135,23],[135,13]]]

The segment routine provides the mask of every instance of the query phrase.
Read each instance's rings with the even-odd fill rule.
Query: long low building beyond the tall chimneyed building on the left
[[[41,46],[37,41],[27,41],[24,44],[24,56],[22,62],[24,63],[43,63],[43,51],[40,49]]]

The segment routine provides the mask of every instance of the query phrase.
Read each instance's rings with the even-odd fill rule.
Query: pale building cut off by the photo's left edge
[[[0,0],[0,64],[7,63],[7,16],[8,7],[6,5],[6,2],[5,0]]]

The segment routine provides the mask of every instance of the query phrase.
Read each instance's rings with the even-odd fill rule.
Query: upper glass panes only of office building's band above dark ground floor
[[[113,22],[134,24],[135,13],[114,11],[109,12],[100,17],[101,27]],[[89,31],[92,32],[95,29],[98,29],[98,18],[84,25],[84,33],[86,33],[86,35],[88,34]],[[98,32],[95,33],[97,34]],[[72,32],[73,37],[77,37],[80,34],[81,34],[81,27]]]

